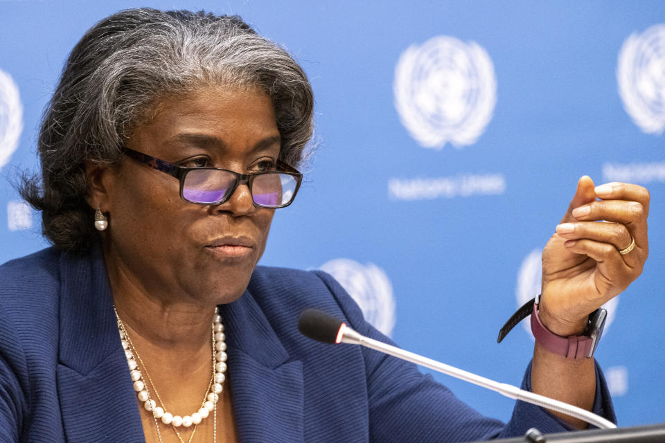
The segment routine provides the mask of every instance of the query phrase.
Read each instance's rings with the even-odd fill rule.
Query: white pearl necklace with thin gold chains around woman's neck
[[[208,389],[206,390],[206,396],[204,397],[201,408],[199,408],[197,412],[191,415],[185,415],[184,417],[179,415],[172,415],[166,411],[166,406],[164,406],[163,401],[161,401],[161,398],[159,398],[159,394],[157,393],[157,389],[154,387],[154,383],[152,383],[150,374],[148,374],[148,370],[145,368],[145,364],[143,363],[143,360],[141,360],[139,353],[136,352],[136,348],[134,347],[129,334],[127,334],[127,329],[125,329],[125,325],[120,319],[120,316],[118,316],[118,311],[116,311],[115,307],[114,312],[116,313],[116,320],[118,321],[118,333],[120,334],[121,343],[123,345],[123,349],[125,350],[125,358],[127,359],[127,365],[130,368],[130,376],[132,377],[132,381],[134,381],[136,398],[143,403],[145,410],[152,412],[152,417],[154,419],[154,425],[157,428],[159,441],[161,442],[161,433],[159,432],[157,419],[161,419],[163,424],[173,426],[174,431],[181,442],[183,442],[183,440],[180,437],[178,428],[180,426],[189,428],[190,426],[194,425],[194,431],[189,439],[191,442],[192,438],[194,437],[194,433],[196,432],[196,425],[201,423],[203,419],[210,415],[210,413],[213,413],[214,417],[215,426],[213,426],[213,440],[216,441],[217,403],[220,399],[220,394],[222,393],[224,379],[226,379],[224,372],[227,370],[227,344],[224,342],[226,336],[224,334],[224,325],[222,325],[222,316],[219,314],[219,308],[215,307],[215,316],[213,317],[212,323],[213,376],[208,385]],[[148,381],[150,381],[152,390],[159,400],[160,406],[157,406],[157,402],[150,398],[148,383],[146,383],[146,380],[143,378],[143,374],[139,369],[139,364],[136,362],[136,359],[138,359],[141,363],[143,371],[148,377]]]

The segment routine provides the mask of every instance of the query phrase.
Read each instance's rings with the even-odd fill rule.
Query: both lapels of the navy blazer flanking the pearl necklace
[[[145,442],[101,248],[60,260],[57,388],[68,442]],[[242,442],[303,441],[303,374],[254,297],[220,309]]]

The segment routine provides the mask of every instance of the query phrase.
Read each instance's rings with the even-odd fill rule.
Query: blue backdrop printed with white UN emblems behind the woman
[[[0,0],[0,262],[45,246],[10,185],[65,57],[130,1]],[[402,347],[517,384],[533,339],[497,331],[588,174],[649,188],[651,254],[596,353],[619,424],[664,422],[665,6],[608,2],[143,1],[242,15],[316,98],[317,153],[263,264],[323,267]],[[483,413],[512,401],[435,376]]]

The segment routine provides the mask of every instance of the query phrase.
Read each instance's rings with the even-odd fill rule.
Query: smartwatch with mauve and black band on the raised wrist
[[[538,317],[538,303],[540,294],[526,302],[515,314],[508,319],[506,324],[499,330],[497,343],[501,343],[508,332],[520,323],[526,316],[531,314],[531,332],[542,347],[549,352],[565,356],[567,359],[590,359],[594,356],[598,341],[603,335],[605,320],[608,318],[608,311],[598,308],[589,314],[587,326],[583,335],[560,336],[551,332],[545,327]]]

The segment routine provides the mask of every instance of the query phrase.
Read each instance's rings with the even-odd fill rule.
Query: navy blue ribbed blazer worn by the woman
[[[329,275],[259,266],[240,299],[221,307],[242,442],[461,442],[565,430],[522,402],[502,424],[414,365],[310,341],[297,330],[308,307],[388,340]],[[48,248],[0,266],[0,313],[0,442],[144,442],[98,248]],[[614,419],[597,373],[595,412]]]

